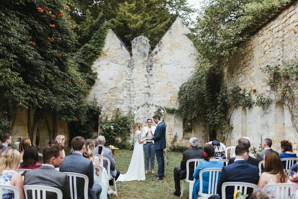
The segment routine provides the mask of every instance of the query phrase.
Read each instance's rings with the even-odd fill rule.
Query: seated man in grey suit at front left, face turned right
[[[70,187],[66,174],[56,171],[63,161],[62,148],[58,144],[50,144],[43,149],[43,165],[38,169],[25,172],[24,185],[42,185],[55,187],[62,191],[63,199],[70,199]],[[29,198],[32,198],[29,192]],[[47,198],[56,198],[53,192],[47,192]]]

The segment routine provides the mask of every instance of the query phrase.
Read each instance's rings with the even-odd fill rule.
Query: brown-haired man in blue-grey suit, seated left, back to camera
[[[82,155],[85,151],[85,140],[83,137],[74,137],[71,141],[71,146],[74,152],[65,157],[61,164],[61,172],[73,172],[84,174],[88,177],[88,198],[99,198],[102,187],[99,184],[94,184],[93,162],[84,158]],[[63,154],[63,153],[62,153]],[[83,178],[77,179],[77,196],[78,199],[84,198],[84,184]]]

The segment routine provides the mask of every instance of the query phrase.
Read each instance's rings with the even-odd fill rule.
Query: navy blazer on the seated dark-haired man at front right
[[[221,187],[223,183],[227,182],[243,182],[257,184],[259,181],[259,169],[247,163],[244,160],[238,160],[233,164],[224,166],[221,170],[219,183],[217,185],[217,193],[222,196]],[[241,191],[241,190],[240,190]],[[252,190],[248,189],[248,195],[252,193]],[[233,198],[234,187],[226,188],[226,198]]]

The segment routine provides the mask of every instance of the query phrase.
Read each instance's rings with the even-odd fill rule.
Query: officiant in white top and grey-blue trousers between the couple
[[[156,127],[152,126],[152,120],[149,118],[147,119],[147,127],[144,127],[142,130],[142,139],[143,138],[152,138],[154,136]],[[145,151],[145,174],[148,174],[149,170],[149,159],[151,163],[151,173],[155,174],[154,172],[154,160],[155,160],[155,150],[154,150],[154,140],[145,140],[144,144],[144,151]]]

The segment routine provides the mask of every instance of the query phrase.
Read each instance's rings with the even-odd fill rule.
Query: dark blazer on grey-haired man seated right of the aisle
[[[180,180],[183,180],[186,178],[186,162],[190,159],[204,159],[204,151],[199,149],[198,147],[192,147],[191,149],[188,149],[183,152],[183,157],[180,163]],[[189,164],[189,180],[193,180],[193,174],[194,172],[194,162],[191,162]]]

